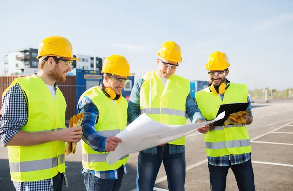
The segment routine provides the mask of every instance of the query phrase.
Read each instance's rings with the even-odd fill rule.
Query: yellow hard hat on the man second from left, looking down
[[[130,66],[125,57],[111,55],[103,62],[102,73],[116,74],[119,76],[134,76],[130,73]]]

